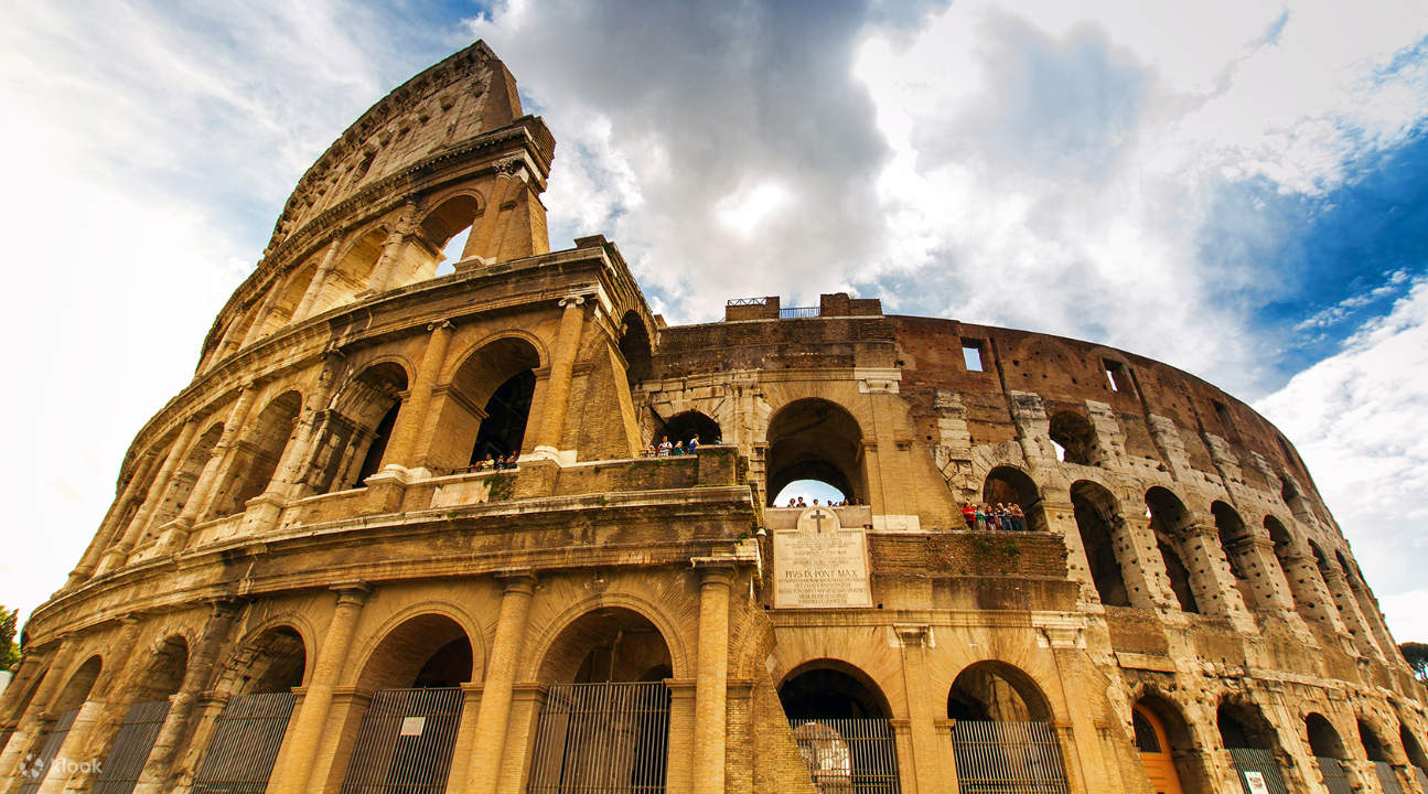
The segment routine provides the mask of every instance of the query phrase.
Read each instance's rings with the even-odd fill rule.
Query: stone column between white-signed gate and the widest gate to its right
[[[481,708],[476,715],[476,737],[470,768],[471,794],[494,794],[506,755],[506,734],[511,720],[511,693],[516,664],[526,640],[526,615],[536,593],[536,576],[513,571],[501,577],[501,611],[491,640],[491,658],[481,685]]]

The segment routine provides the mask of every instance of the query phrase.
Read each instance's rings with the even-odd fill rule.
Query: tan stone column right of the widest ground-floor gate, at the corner
[[[694,794],[724,794],[724,724],[728,717],[728,597],[734,566],[695,561],[700,634],[694,671]]]

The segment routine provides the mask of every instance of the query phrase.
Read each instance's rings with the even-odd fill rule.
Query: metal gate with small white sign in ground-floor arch
[[[440,794],[461,725],[460,687],[378,690],[361,718],[341,794]]]

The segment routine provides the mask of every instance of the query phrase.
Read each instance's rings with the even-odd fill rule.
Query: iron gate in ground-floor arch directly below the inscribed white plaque
[[[818,794],[898,794],[897,744],[887,720],[788,721]]]

